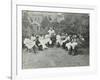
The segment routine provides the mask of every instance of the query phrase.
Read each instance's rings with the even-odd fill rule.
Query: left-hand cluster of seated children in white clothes
[[[52,44],[52,41],[49,35],[34,35],[32,34],[31,37],[26,37],[24,39],[24,45],[26,46],[27,50],[30,52],[32,49],[34,53],[37,53],[37,50],[44,50],[47,49],[49,45]]]

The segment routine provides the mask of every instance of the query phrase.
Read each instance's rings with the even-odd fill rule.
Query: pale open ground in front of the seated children
[[[22,68],[51,68],[51,67],[79,67],[89,66],[88,49],[80,49],[78,55],[69,55],[62,48],[48,48],[38,51],[36,54],[32,51],[28,53],[26,49],[22,50]]]

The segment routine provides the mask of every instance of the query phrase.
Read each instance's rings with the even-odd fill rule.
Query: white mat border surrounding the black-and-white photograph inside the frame
[[[15,4],[13,4],[15,5]],[[24,4],[23,4],[24,5]],[[12,79],[27,79],[27,78],[45,78],[45,77],[57,77],[57,76],[81,76],[87,74],[96,73],[96,43],[95,43],[95,9],[86,7],[71,7],[71,6],[47,6],[42,5],[24,5],[22,4],[13,6],[12,15]],[[55,5],[56,6],[56,5]],[[69,8],[71,7],[71,8]],[[48,69],[21,69],[21,36],[22,36],[22,24],[21,24],[21,11],[49,11],[49,12],[73,12],[73,13],[89,13],[90,15],[90,66],[87,67],[67,67],[67,68],[48,68]],[[16,44],[17,42],[17,44]],[[17,56],[17,57],[16,57]]]

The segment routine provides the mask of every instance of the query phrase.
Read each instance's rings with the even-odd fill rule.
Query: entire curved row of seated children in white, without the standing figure
[[[34,35],[31,37],[26,37],[24,39],[24,45],[27,50],[34,53],[37,53],[38,50],[45,50],[49,47],[61,47],[68,51],[69,54],[77,54],[77,48],[80,42],[80,39],[84,41],[84,38],[78,35],[68,35],[64,34],[45,34],[45,35]]]

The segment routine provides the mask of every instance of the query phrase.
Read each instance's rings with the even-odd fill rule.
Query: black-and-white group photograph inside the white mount
[[[88,13],[22,10],[22,69],[89,66]]]

